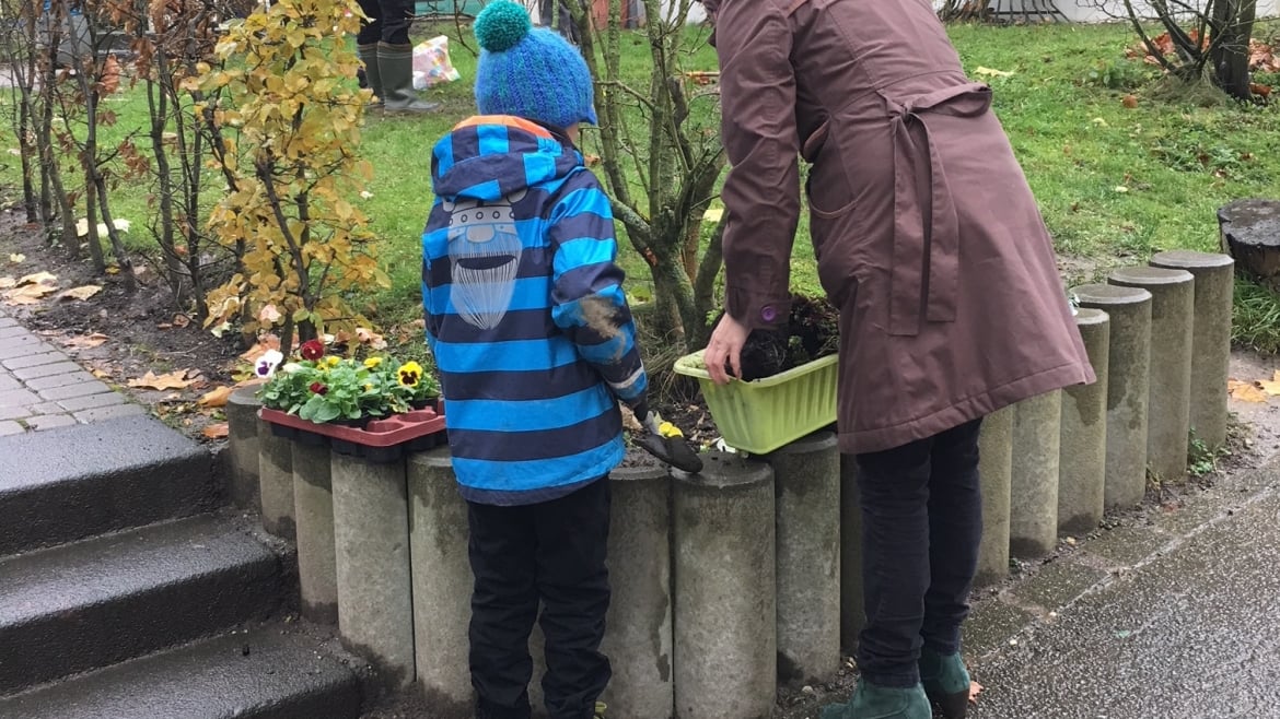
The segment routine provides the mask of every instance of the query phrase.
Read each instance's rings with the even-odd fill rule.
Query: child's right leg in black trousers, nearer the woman
[[[609,478],[605,476],[538,509],[538,591],[541,594],[552,719],[590,719],[609,683],[600,654],[609,609]]]

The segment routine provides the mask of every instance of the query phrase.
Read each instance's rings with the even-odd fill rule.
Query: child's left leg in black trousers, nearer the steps
[[[467,503],[471,686],[484,719],[527,719],[529,632],[538,617],[535,508]]]

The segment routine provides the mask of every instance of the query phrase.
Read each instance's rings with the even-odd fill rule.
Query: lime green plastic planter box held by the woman
[[[750,383],[717,385],[703,353],[676,361],[676,374],[695,377],[724,443],[767,454],[836,421],[837,356],[831,354]]]

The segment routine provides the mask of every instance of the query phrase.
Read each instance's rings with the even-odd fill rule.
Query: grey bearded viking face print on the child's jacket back
[[[449,294],[468,325],[493,329],[511,307],[521,255],[512,205],[524,197],[521,189],[495,202],[443,202],[449,214]]]

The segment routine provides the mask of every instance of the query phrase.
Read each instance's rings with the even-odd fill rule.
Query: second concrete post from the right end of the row
[[[1180,481],[1187,475],[1188,435],[1192,429],[1196,279],[1185,270],[1128,267],[1111,273],[1110,281],[1121,287],[1139,287],[1151,293],[1147,466],[1162,481]]]

